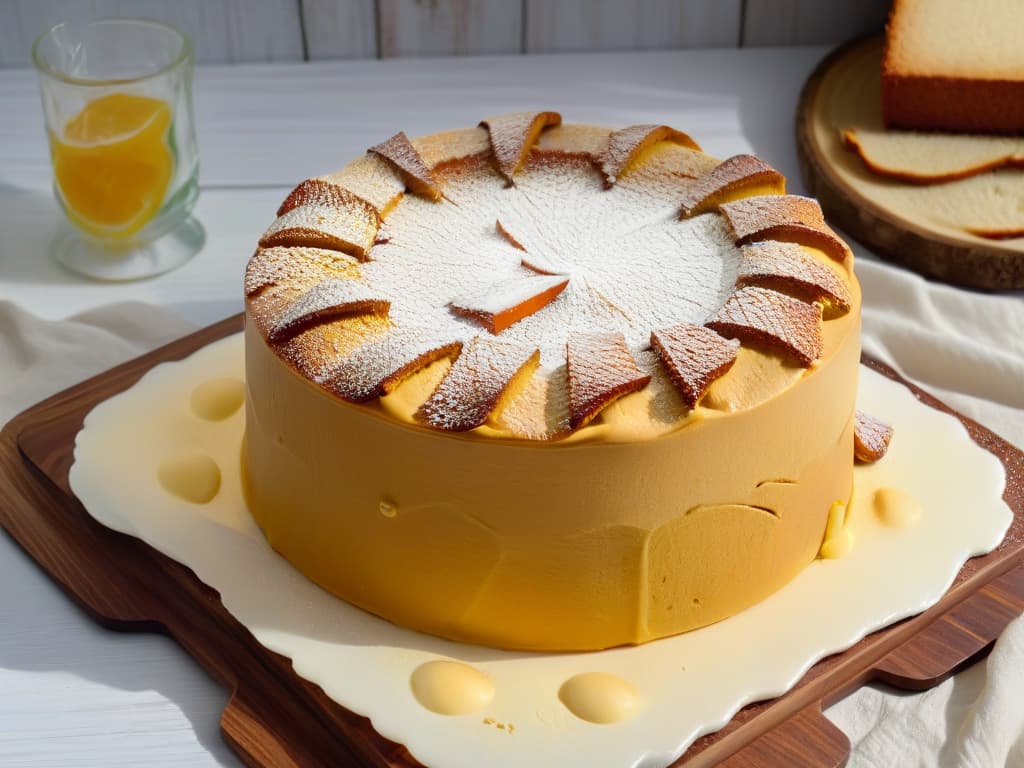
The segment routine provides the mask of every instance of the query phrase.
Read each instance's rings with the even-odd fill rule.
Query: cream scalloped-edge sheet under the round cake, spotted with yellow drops
[[[160,365],[98,406],[76,441],[75,494],[99,522],[190,567],[260,643],[435,768],[665,766],[743,705],[784,692],[817,659],[935,603],[964,561],[993,549],[1012,519],[999,462],[955,419],[861,368],[859,407],[896,433],[884,460],[856,469],[848,555],[815,561],[738,615],[638,647],[546,654],[462,645],[332,597],[266,545],[242,498],[244,409],[209,422],[189,406],[195,387],[222,377],[244,377],[241,336]],[[222,478],[205,505],[167,494],[157,479],[163,459],[197,453],[211,457]],[[921,503],[915,525],[879,521],[871,498],[884,486]],[[435,658],[489,676],[490,705],[459,717],[421,707],[410,675]],[[636,715],[611,725],[575,718],[557,692],[582,672],[631,682],[641,697]]]

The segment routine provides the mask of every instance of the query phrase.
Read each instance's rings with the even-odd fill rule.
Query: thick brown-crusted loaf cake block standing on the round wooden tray
[[[1018,0],[896,0],[882,63],[889,128],[1024,131]]]

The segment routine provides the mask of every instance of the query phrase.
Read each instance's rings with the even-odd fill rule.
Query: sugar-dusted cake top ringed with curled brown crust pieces
[[[667,126],[547,112],[400,133],[286,199],[247,269],[249,315],[299,374],[402,421],[671,431],[698,403],[784,389],[849,330],[848,249],[783,191],[767,164]]]

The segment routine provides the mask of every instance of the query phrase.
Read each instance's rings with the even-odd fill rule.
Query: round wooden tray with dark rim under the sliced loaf
[[[986,240],[893,208],[882,199],[903,182],[872,174],[844,147],[840,134],[851,127],[851,111],[881,109],[883,45],[881,37],[844,45],[804,85],[797,152],[808,190],[833,224],[883,258],[967,288],[1024,288],[1024,239]],[[922,189],[905,187],[907,198]],[[955,194],[955,187],[947,188]]]

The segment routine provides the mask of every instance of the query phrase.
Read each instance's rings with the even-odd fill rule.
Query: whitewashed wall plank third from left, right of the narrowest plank
[[[380,56],[519,53],[518,0],[377,0]]]

